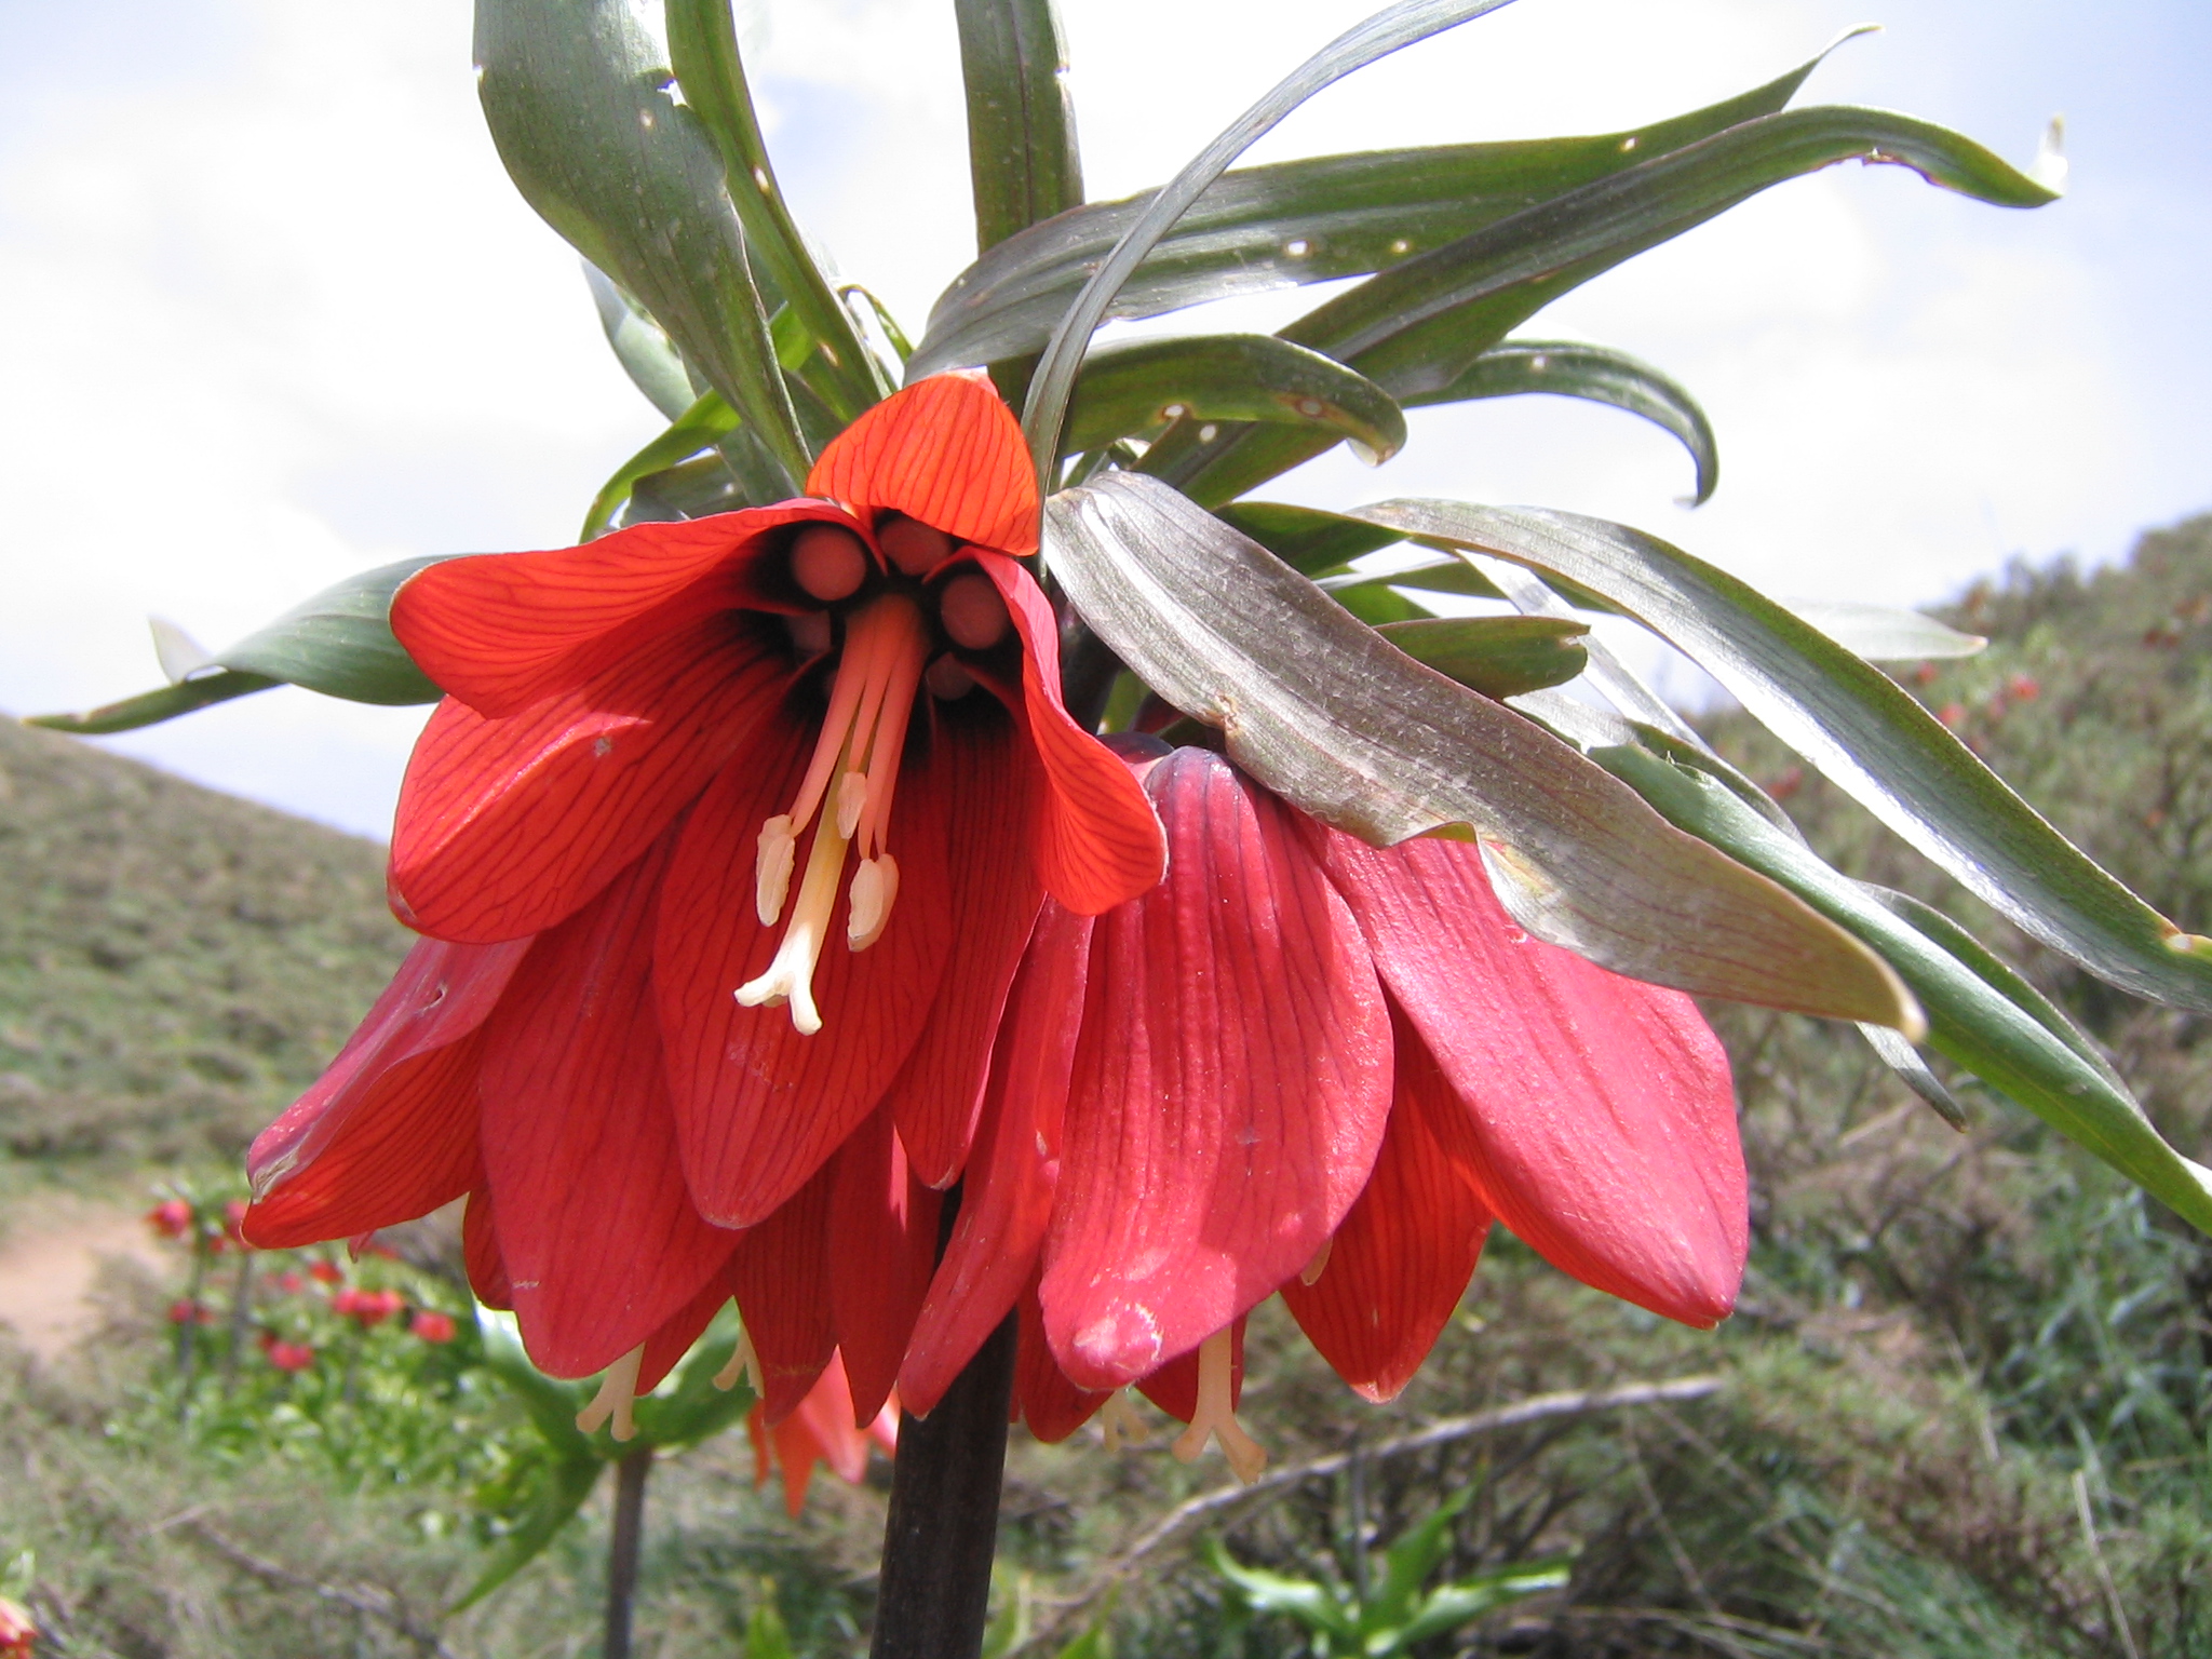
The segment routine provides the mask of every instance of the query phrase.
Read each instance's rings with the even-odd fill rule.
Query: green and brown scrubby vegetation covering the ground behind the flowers
[[[2212,520],[2146,538],[2126,568],[2015,566],[1947,619],[1991,648],[1907,684],[2137,891],[2212,922]],[[1825,856],[2004,940],[2115,1051],[2161,1128],[2205,1146],[2203,1020],[2008,936],[1747,721],[1712,730]],[[148,1203],[161,1172],[221,1179],[400,951],[378,863],[363,843],[0,728],[0,1194]],[[1245,1564],[1349,1582],[1360,1537],[1389,1542],[1473,1489],[1442,1573],[1571,1553],[1571,1582],[1422,1655],[2212,1652],[2212,1248],[1971,1082],[1960,1135],[1854,1033],[1714,1015],[1754,1170],[1734,1321],[1670,1327],[1498,1234],[1431,1365],[1367,1407],[1270,1305],[1252,1323],[1248,1425],[1279,1469],[1360,1458],[1212,1511],[1108,1582],[1102,1566],[1172,1504],[1223,1482],[1219,1462],[1170,1462],[1157,1416],[1150,1444],[1119,1455],[1088,1431],[1057,1449],[1018,1436],[1002,1628],[1064,1641],[1104,1617],[1121,1652],[1303,1652],[1298,1626],[1225,1593],[1194,1548],[1208,1531]],[[431,1234],[411,1254],[389,1272],[434,1303],[442,1245]],[[241,1409],[292,1409],[281,1433],[241,1436],[217,1409],[175,1427],[177,1287],[113,1274],[108,1292],[100,1340],[71,1363],[0,1363],[0,1559],[38,1553],[53,1652],[595,1648],[604,1493],[522,1579],[440,1619],[498,1544],[484,1506],[500,1449],[522,1444],[511,1405],[440,1394],[422,1371],[409,1387],[445,1427],[398,1460],[405,1480],[392,1458],[341,1455],[358,1425],[307,1409],[327,1383],[263,1369],[239,1385]],[[1533,1394],[1683,1376],[1721,1387],[1378,1451]],[[816,1482],[796,1522],[752,1473],[732,1433],[655,1475],[639,1652],[768,1659],[768,1606],[794,1652],[856,1650],[883,1464],[863,1489]]]

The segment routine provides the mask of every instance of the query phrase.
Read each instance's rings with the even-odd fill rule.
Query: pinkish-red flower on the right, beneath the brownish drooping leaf
[[[1237,1325],[1276,1290],[1387,1400],[1493,1217],[1615,1296],[1728,1316],[1743,1152],[1688,998],[1533,940],[1475,845],[1378,852],[1206,750],[1141,743],[1124,752],[1168,827],[1168,878],[1037,922],[898,1378],[909,1409],[1024,1305],[1018,1394],[1040,1436],[1141,1378],[1219,1429]]]

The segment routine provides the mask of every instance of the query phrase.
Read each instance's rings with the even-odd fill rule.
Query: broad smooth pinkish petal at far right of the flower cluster
[[[1688,1325],[1747,1243],[1728,1055],[1690,998],[1528,938],[1467,843],[1310,825],[1376,969],[1464,1108],[1489,1208],[1537,1254]]]

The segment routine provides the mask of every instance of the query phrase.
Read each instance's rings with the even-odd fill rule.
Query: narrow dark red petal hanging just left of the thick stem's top
[[[832,1179],[830,1310],[860,1429],[891,1398],[914,1316],[922,1312],[938,1259],[940,1194],[907,1172],[885,1106],[838,1148]]]

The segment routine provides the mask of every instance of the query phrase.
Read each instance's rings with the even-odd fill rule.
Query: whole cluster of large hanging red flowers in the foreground
[[[1688,1000],[1524,936],[1471,845],[1082,732],[982,376],[807,489],[400,588],[449,692],[392,849],[425,940],[254,1141],[248,1239],[467,1194],[478,1296],[617,1429],[734,1298],[787,1493],[858,1447],[825,1409],[927,1411],[1015,1307],[1040,1436],[1139,1385],[1250,1469],[1245,1312],[1281,1290],[1389,1398],[1493,1217],[1725,1316],[1743,1164]]]

